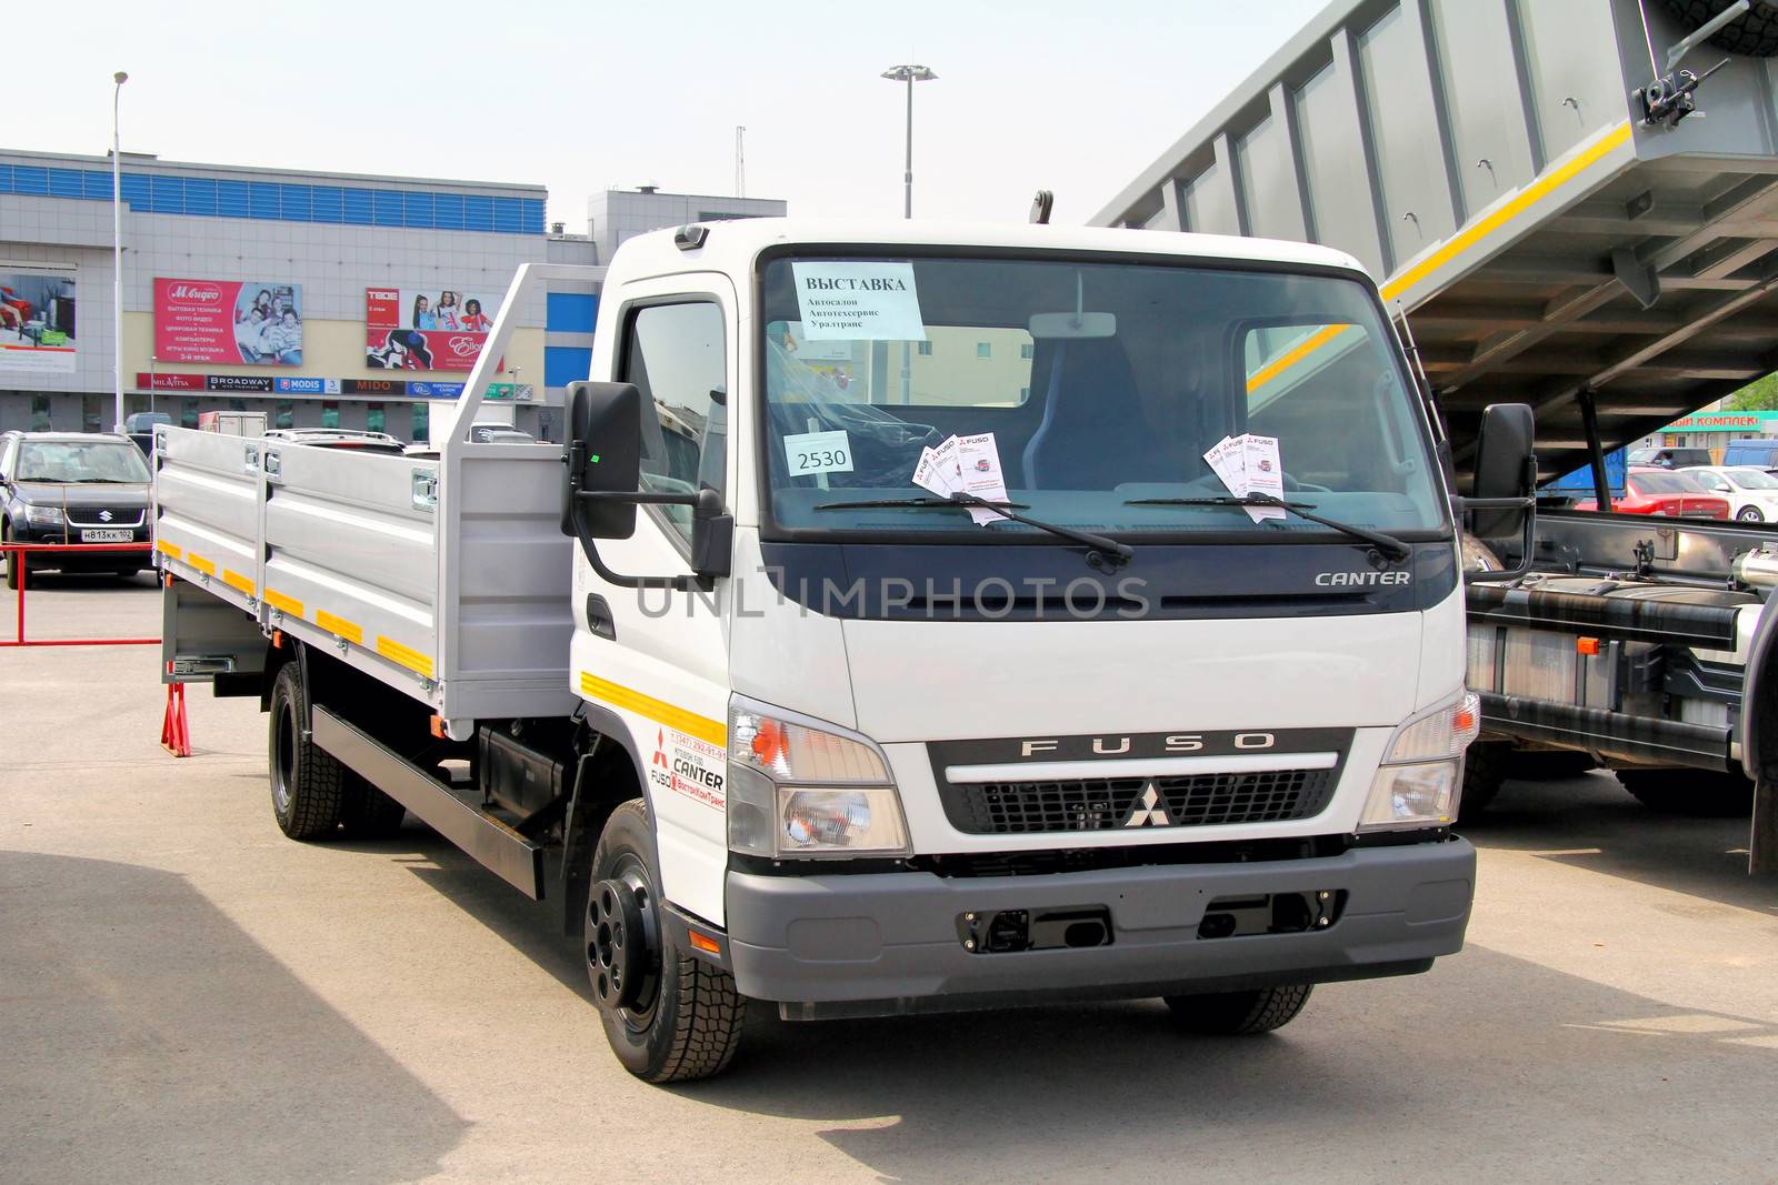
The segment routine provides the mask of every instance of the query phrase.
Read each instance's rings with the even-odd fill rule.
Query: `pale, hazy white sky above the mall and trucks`
[[[585,231],[599,188],[733,194],[745,124],[749,197],[900,215],[912,60],[916,217],[1085,222],[1323,4],[62,0],[0,25],[0,146],[105,153],[126,69],[164,160],[544,183]]]

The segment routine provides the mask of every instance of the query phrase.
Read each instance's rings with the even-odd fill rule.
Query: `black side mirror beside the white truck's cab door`
[[[629,382],[569,384],[562,533],[629,538],[637,533],[637,501],[599,496],[633,496],[640,481],[642,393]]]

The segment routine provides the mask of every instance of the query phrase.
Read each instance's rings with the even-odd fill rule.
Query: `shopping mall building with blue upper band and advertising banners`
[[[539,185],[192,165],[123,155],[126,412],[196,426],[261,410],[270,426],[425,439],[455,398],[523,263],[599,266],[624,238],[784,203],[605,192],[587,226],[546,222]],[[494,398],[558,439],[587,377],[597,277],[517,307]],[[0,149],[0,432],[112,426],[108,156]]]

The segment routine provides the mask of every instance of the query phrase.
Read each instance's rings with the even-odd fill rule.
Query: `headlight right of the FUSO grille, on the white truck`
[[[1401,723],[1389,737],[1371,780],[1360,831],[1446,826],[1456,817],[1463,750],[1481,732],[1481,696],[1465,691],[1449,704]]]

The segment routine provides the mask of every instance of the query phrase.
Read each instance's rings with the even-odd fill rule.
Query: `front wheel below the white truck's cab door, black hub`
[[[653,851],[642,799],[613,810],[592,853],[587,975],[624,1070],[645,1082],[692,1082],[734,1057],[745,1000],[733,975],[674,943]]]

